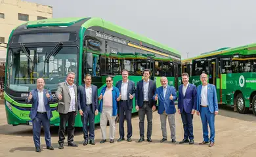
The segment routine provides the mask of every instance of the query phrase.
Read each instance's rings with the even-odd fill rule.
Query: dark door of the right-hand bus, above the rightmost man
[[[209,83],[216,86],[217,81],[217,71],[218,71],[219,62],[217,59],[209,61]]]

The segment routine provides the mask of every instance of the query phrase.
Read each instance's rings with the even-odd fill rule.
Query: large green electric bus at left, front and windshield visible
[[[32,124],[29,118],[32,104],[26,104],[25,99],[30,90],[36,88],[39,77],[45,79],[45,88],[53,93],[51,125],[58,126],[58,101],[54,93],[69,71],[76,73],[77,85],[83,84],[87,73],[91,74],[99,93],[105,86],[106,76],[114,77],[115,85],[121,80],[121,70],[127,69],[129,79],[136,83],[142,79],[146,68],[152,71],[151,79],[156,80],[158,86],[161,76],[167,77],[169,84],[175,87],[181,83],[181,55],[177,50],[101,18],[26,22],[12,30],[7,44],[5,108],[8,124]],[[98,115],[95,123],[99,121]],[[81,127],[79,115],[75,126]]]

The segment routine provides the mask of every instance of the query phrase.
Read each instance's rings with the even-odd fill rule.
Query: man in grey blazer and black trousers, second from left
[[[74,84],[75,73],[69,72],[66,81],[58,84],[56,96],[58,97],[57,111],[60,114],[60,128],[58,130],[58,144],[63,149],[65,128],[68,122],[68,146],[77,147],[74,143],[74,124],[77,114],[77,86]]]

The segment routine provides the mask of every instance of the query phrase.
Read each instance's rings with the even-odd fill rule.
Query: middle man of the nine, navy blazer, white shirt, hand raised
[[[122,80],[116,83],[116,87],[121,93],[121,99],[118,101],[119,107],[119,135],[117,140],[125,140],[125,132],[123,127],[124,118],[127,122],[127,141],[131,142],[131,136],[133,135],[133,128],[131,126],[131,110],[133,109],[133,97],[135,97],[135,83],[128,80],[129,72],[127,70],[122,71]]]

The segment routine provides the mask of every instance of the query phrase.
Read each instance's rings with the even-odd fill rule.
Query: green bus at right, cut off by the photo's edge
[[[200,74],[207,73],[220,105],[233,105],[239,113],[252,109],[256,116],[256,43],[182,60],[182,72],[189,73],[196,86],[201,84]]]

